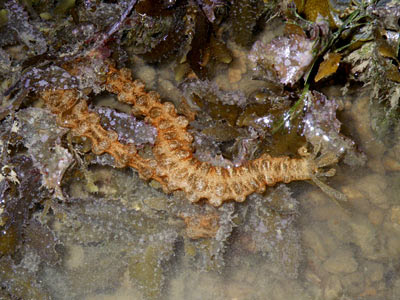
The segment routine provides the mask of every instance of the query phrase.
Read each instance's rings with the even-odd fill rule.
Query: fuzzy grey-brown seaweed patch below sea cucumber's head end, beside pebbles
[[[250,195],[234,247],[267,257],[276,274],[297,278],[302,260],[297,215],[297,201],[285,185],[270,188],[266,196]]]

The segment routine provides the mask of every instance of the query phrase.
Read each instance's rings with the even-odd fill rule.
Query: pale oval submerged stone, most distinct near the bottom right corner
[[[333,274],[353,273],[358,268],[353,253],[347,249],[338,249],[323,264],[326,271]]]

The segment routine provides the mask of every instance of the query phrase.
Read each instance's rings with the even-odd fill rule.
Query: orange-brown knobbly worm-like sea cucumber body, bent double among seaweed
[[[92,141],[95,154],[109,153],[118,167],[135,168],[140,177],[158,181],[165,192],[182,190],[191,202],[205,199],[214,206],[225,201],[242,202],[253,192],[262,192],[265,186],[278,182],[315,178],[318,166],[315,157],[262,155],[258,159],[232,168],[215,167],[193,157],[193,137],[187,131],[188,120],[179,116],[172,103],[162,103],[156,92],[146,92],[144,84],[131,79],[129,70],[109,67],[106,89],[117,95],[119,101],[132,105],[157,129],[153,146],[154,159],[145,159],[132,145],[118,141],[118,135],[100,125],[99,118],[90,112],[86,101],[77,91],[44,91],[42,98],[58,116],[61,126]],[[325,162],[324,162],[325,164]]]

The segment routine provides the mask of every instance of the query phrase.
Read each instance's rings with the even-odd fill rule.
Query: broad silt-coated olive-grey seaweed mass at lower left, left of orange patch
[[[53,295],[61,299],[96,295],[118,287],[129,271],[132,287],[157,299],[165,280],[162,262],[173,255],[177,237],[163,218],[105,198],[77,199],[68,209],[54,210],[60,216],[54,234],[71,255],[80,246],[83,258],[69,258],[70,268],[65,271],[46,268],[43,279]]]

